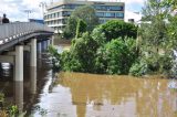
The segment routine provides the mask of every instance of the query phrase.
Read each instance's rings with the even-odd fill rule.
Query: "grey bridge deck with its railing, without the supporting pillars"
[[[53,33],[53,29],[34,22],[0,24],[0,52],[30,38],[50,36]]]

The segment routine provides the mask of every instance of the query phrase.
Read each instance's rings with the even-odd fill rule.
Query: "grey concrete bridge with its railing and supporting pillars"
[[[54,30],[33,22],[0,24],[0,63],[13,65],[13,77],[23,81],[23,51],[30,51],[30,66],[37,67],[37,45],[41,52],[42,41],[52,44]]]

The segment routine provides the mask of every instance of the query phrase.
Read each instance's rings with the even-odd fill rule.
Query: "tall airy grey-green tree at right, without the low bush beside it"
[[[148,18],[145,19],[148,23],[140,25],[139,65],[146,64],[148,73],[169,73],[171,68],[173,47],[166,22],[169,9],[162,3],[162,0],[147,0],[143,9],[143,15]]]

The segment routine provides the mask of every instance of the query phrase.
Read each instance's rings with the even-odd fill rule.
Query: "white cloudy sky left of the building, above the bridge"
[[[46,0],[0,0],[0,17],[7,13],[10,21],[27,21],[28,13],[25,10],[30,10],[29,18],[42,19],[42,10],[39,3]]]

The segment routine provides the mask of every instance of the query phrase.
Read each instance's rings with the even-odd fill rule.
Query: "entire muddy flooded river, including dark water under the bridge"
[[[168,88],[169,79],[56,74],[46,53],[33,71],[25,67],[24,83],[14,83],[11,65],[0,70],[6,100],[20,105],[27,117],[177,117],[177,91]]]

